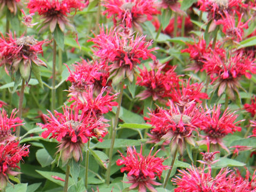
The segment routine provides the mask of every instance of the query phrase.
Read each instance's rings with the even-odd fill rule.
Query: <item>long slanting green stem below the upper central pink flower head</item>
[[[118,107],[116,109],[116,116],[115,116],[115,121],[114,121],[114,126],[111,134],[111,144],[110,144],[110,149],[109,149],[109,163],[108,163],[108,169],[106,172],[106,183],[109,185],[110,182],[110,169],[111,169],[111,162],[112,162],[112,156],[113,156],[113,149],[114,149],[114,143],[115,143],[115,138],[116,138],[116,127],[118,124],[118,119],[119,119],[119,113],[121,109],[121,103],[122,103],[122,97],[123,97],[123,92],[124,92],[124,83],[122,82],[120,84],[120,93],[117,98],[118,102]]]

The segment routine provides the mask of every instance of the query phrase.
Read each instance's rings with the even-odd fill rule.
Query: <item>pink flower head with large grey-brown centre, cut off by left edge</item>
[[[42,45],[46,41],[37,41],[31,36],[20,38],[8,34],[8,37],[0,38],[0,65],[5,65],[6,71],[11,71],[13,75],[20,71],[21,76],[28,82],[31,75],[32,65],[46,66],[46,63],[38,58],[38,54],[43,54]]]

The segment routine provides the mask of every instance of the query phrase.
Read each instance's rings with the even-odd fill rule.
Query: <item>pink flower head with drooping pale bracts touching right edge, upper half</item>
[[[255,59],[246,57],[242,51],[231,55],[229,58],[221,57],[217,53],[205,55],[205,66],[208,75],[212,82],[218,80],[218,96],[223,92],[228,94],[231,99],[235,99],[234,91],[238,93],[239,79],[242,76],[251,78],[251,73],[256,73]]]

